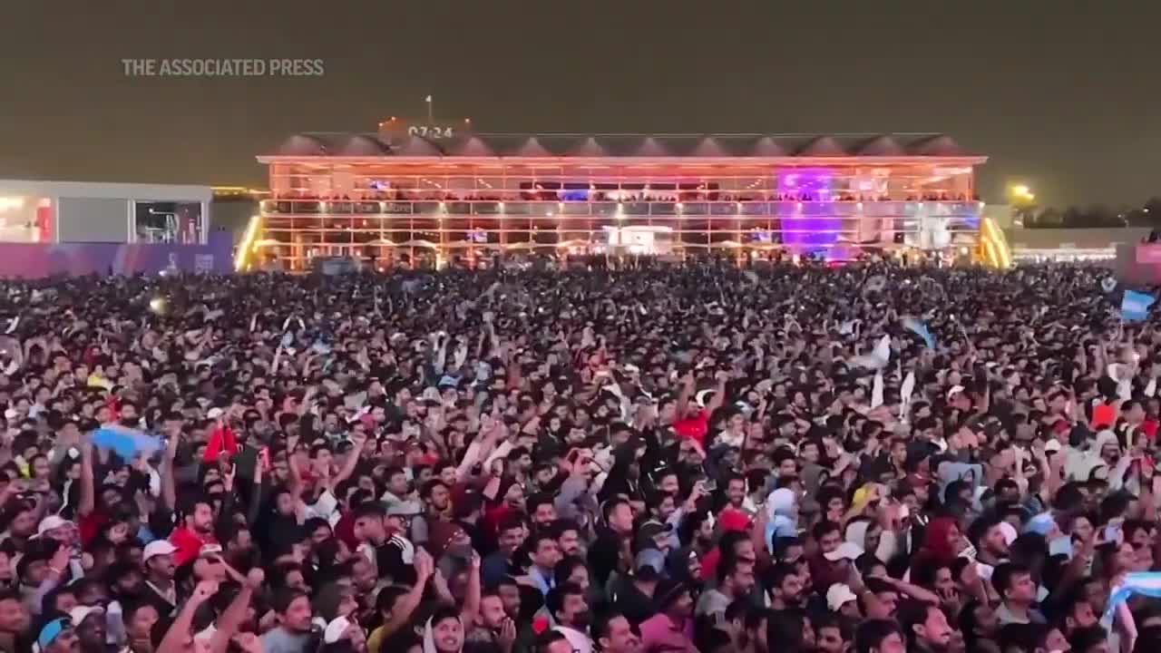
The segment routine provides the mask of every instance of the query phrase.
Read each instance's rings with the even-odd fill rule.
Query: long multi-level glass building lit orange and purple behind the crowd
[[[259,156],[250,266],[476,266],[504,253],[738,259],[976,251],[986,157],[894,135],[301,134]]]

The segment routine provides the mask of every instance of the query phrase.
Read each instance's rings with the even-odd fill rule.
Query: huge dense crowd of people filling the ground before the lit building
[[[6,282],[0,651],[1156,651],[1104,277]]]

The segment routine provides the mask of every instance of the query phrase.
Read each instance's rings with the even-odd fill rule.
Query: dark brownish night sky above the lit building
[[[296,131],[943,131],[985,198],[1161,194],[1146,1],[13,1],[0,175],[264,184]],[[320,78],[127,77],[122,58],[322,58]]]

